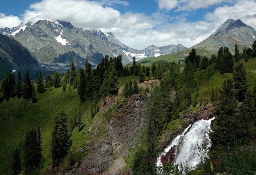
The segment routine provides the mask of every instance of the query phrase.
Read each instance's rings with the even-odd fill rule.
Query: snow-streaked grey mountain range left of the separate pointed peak
[[[78,67],[83,67],[85,59],[96,66],[104,55],[123,55],[123,63],[127,64],[132,61],[132,57],[139,60],[186,49],[178,44],[164,47],[151,45],[146,49],[137,50],[121,43],[111,32],[76,28],[70,22],[60,20],[22,23],[12,29],[0,29],[0,32],[14,37],[27,47],[40,63],[52,68],[68,67],[71,60]]]

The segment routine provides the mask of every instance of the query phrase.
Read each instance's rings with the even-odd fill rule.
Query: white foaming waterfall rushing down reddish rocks
[[[182,165],[186,165],[189,168],[196,167],[200,162],[198,146],[201,147],[204,144],[210,147],[208,131],[210,130],[212,120],[214,120],[214,118],[199,120],[192,126],[188,126],[181,135],[172,140],[170,146],[164,149],[162,155],[166,155],[171,147],[176,145],[176,158],[174,159],[174,163],[182,163]],[[158,167],[162,165],[161,156],[157,158],[156,165]]]

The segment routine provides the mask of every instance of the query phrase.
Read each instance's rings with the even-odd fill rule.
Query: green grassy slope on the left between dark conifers
[[[70,118],[74,116],[74,114],[78,112],[78,108],[81,107],[83,123],[90,123],[90,115],[88,115],[90,114],[88,112],[90,102],[80,104],[77,90],[72,89],[62,92],[62,87],[52,88],[52,90],[46,90],[43,94],[38,94],[37,98],[38,102],[35,104],[31,104],[31,100],[24,100],[23,98],[14,98],[8,101],[4,100],[0,103],[0,159],[4,160],[0,164],[0,174],[10,174],[11,171],[11,117],[13,120],[14,148],[22,148],[26,132],[40,126],[42,132],[44,166],[49,165],[51,162],[50,142],[54,116],[64,110],[68,118]],[[78,138],[76,138],[76,136]],[[76,134],[75,131],[72,135],[72,146],[78,144],[79,137],[81,137],[80,134]]]

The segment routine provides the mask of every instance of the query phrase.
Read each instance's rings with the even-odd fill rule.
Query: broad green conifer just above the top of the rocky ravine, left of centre
[[[114,94],[118,92],[116,71],[113,66],[104,73],[104,80],[100,89],[101,94]]]

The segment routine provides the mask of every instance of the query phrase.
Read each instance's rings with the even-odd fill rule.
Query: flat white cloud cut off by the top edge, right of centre
[[[157,0],[160,10],[196,10],[198,8],[208,8],[209,6],[222,2],[232,2],[231,0]]]

